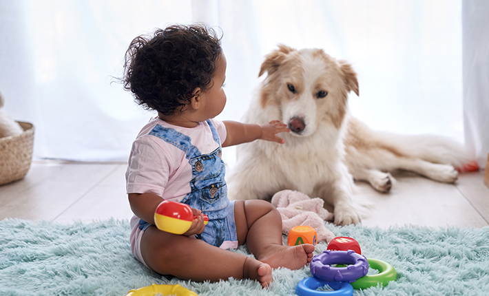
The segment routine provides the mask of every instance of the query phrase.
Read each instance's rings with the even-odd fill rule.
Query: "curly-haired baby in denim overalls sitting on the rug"
[[[126,172],[134,256],[162,275],[211,282],[249,278],[263,287],[272,268],[310,262],[313,245],[282,245],[280,213],[269,202],[227,198],[222,147],[257,139],[283,143],[276,134],[290,130],[278,120],[260,126],[213,119],[226,104],[226,58],[216,32],[172,25],[138,36],[124,67],[125,89],[158,112],[134,140]],[[163,200],[189,204],[198,215],[183,235],[154,226]],[[256,259],[227,251],[245,243]]]

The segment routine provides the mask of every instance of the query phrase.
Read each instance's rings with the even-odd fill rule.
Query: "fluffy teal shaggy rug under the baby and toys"
[[[388,262],[397,271],[396,282],[355,290],[354,295],[489,295],[489,227],[326,227],[336,236],[355,238],[363,255]],[[325,249],[320,243],[315,253]],[[234,251],[249,254],[245,246]],[[295,286],[309,276],[309,267],[274,270],[268,290],[232,278],[188,282],[162,277],[134,259],[126,220],[0,221],[0,295],[125,295],[153,283],[180,284],[201,296],[295,295]]]

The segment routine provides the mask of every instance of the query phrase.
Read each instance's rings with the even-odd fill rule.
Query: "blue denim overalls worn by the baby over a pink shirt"
[[[218,149],[210,154],[200,154],[197,147],[191,144],[189,136],[181,134],[175,129],[156,125],[149,133],[185,152],[192,167],[191,192],[183,200],[194,209],[199,209],[209,217],[204,232],[196,237],[200,240],[220,246],[222,242],[238,240],[236,224],[234,223],[234,202],[227,198],[227,185],[225,182],[225,165],[221,160],[222,148],[216,128],[211,120],[207,124],[212,131],[212,137],[218,143]],[[143,231],[149,224],[140,220],[139,226]]]

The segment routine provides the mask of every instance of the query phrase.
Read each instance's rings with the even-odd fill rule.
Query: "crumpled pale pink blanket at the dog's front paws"
[[[280,215],[282,215],[282,232],[289,234],[293,226],[307,225],[318,233],[318,242],[329,242],[335,235],[326,229],[324,220],[332,220],[333,213],[324,209],[324,200],[309,198],[299,191],[278,191],[271,198]]]

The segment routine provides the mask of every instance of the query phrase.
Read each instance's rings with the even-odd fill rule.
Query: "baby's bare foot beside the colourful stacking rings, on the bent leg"
[[[314,246],[312,244],[300,244],[298,246],[272,245],[260,254],[258,260],[269,264],[271,268],[285,267],[295,270],[311,262],[313,251]]]

